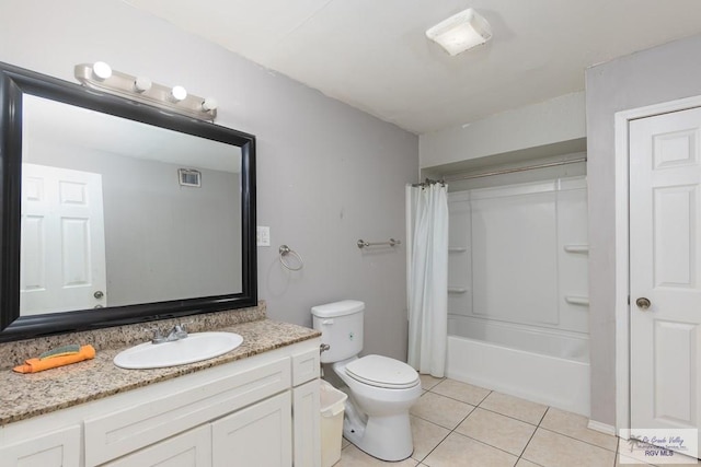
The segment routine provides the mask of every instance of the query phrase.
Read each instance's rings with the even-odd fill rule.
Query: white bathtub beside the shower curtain
[[[577,332],[448,315],[446,376],[589,416],[589,340]]]

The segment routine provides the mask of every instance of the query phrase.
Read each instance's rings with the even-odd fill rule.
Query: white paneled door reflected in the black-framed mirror
[[[22,164],[20,313],[102,307],[102,176]]]

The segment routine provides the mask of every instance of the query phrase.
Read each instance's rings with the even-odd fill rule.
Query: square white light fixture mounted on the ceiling
[[[484,16],[469,8],[426,31],[426,37],[456,56],[490,40],[492,27]]]

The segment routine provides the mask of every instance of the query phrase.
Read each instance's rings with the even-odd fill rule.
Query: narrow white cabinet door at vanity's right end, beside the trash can
[[[319,354],[319,352],[317,352]],[[292,389],[292,436],[295,465],[321,466],[321,401],[319,380],[310,381]]]

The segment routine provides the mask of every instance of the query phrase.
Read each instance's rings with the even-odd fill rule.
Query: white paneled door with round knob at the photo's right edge
[[[701,420],[701,108],[630,122],[631,429]]]

